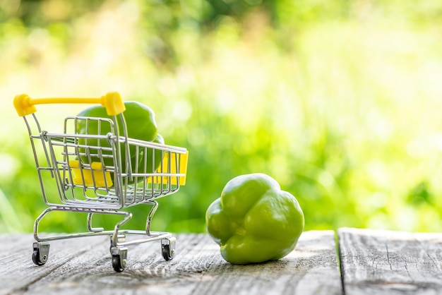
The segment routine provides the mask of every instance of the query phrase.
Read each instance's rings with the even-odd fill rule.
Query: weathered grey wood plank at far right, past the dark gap
[[[339,229],[346,295],[442,294],[442,234]]]

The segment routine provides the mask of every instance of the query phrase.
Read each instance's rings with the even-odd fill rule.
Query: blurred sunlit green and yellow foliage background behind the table
[[[46,207],[13,97],[109,91],[190,152],[155,230],[204,232],[251,172],[297,196],[306,230],[442,230],[442,1],[0,0],[0,21],[1,232],[32,231]],[[37,116],[55,131],[84,107]],[[131,210],[143,228],[148,207]],[[83,230],[83,215],[42,224]]]

